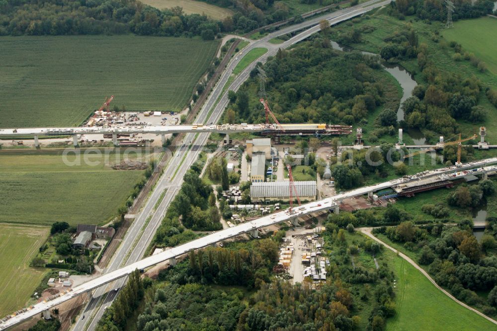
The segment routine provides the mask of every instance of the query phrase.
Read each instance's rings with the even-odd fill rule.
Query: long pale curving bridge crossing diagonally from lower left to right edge
[[[74,289],[67,290],[60,293],[58,296],[52,297],[52,300],[44,300],[28,308],[19,310],[12,315],[8,315],[0,321],[0,330],[12,327],[26,319],[29,319],[35,315],[56,307],[57,305],[60,305],[61,303],[68,301],[78,295],[89,292],[97,287],[110,283],[121,277],[127,276],[135,269],[144,269],[166,260],[169,260],[169,262],[174,265],[177,256],[183,255],[192,249],[205,248],[218,242],[246,233],[249,233],[250,235],[252,235],[252,237],[257,237],[257,229],[259,228],[268,227],[286,221],[290,221],[292,222],[292,224],[296,225],[296,220],[298,217],[302,217],[308,214],[314,214],[323,211],[333,211],[335,213],[338,213],[341,201],[347,198],[364,194],[371,195],[373,192],[385,188],[402,189],[403,187],[408,186],[415,187],[416,183],[418,185],[422,185],[425,184],[426,181],[435,183],[445,180],[458,180],[466,176],[475,174],[486,176],[488,173],[495,172],[497,172],[497,158],[485,159],[463,164],[459,167],[451,166],[436,170],[423,171],[415,175],[404,176],[402,178],[389,180],[383,183],[356,188],[350,191],[336,194],[323,200],[314,201],[304,204],[300,207],[295,207],[292,211],[289,211],[288,209],[281,210],[276,213],[263,216],[256,220],[242,223],[236,227],[221,230],[205,237],[193,240],[189,243],[167,249],[159,254],[146,257],[140,261],[137,261],[120,269],[95,277],[79,286],[76,286]]]

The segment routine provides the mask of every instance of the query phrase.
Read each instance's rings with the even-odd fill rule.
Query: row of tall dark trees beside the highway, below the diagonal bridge
[[[96,330],[116,331],[126,328],[127,319],[137,308],[143,298],[145,290],[144,281],[140,278],[140,271],[135,269],[128,278],[126,285],[119,291],[112,305],[103,313],[98,321]]]

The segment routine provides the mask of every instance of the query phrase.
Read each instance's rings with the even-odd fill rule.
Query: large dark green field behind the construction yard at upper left
[[[0,126],[80,125],[106,96],[129,110],[180,110],[218,41],[173,37],[0,38]]]

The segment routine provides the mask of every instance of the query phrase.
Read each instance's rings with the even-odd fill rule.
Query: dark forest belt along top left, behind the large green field
[[[138,0],[0,0],[0,35],[123,34],[195,36],[214,39],[230,31],[221,21],[165,10]]]

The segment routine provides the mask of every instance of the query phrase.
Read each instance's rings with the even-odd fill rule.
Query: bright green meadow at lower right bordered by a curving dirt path
[[[396,315],[387,320],[386,330],[495,330],[493,323],[450,299],[402,257],[388,254],[397,288]]]

